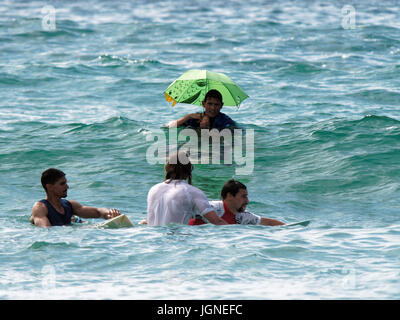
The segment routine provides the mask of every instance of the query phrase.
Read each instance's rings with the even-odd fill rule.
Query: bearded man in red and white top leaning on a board
[[[247,187],[234,179],[225,183],[221,190],[222,201],[210,201],[215,212],[228,224],[260,224],[264,226],[284,225],[283,222],[263,218],[254,213],[246,211],[249,203]],[[207,217],[197,216],[189,221],[190,225],[200,225],[207,223]]]

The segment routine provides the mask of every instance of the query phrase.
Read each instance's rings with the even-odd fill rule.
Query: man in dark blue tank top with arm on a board
[[[69,186],[61,170],[47,169],[42,173],[41,182],[46,191],[46,199],[34,204],[30,218],[31,223],[38,227],[70,225],[73,215],[103,219],[120,215],[117,209],[88,207],[74,200],[63,199],[67,197]]]

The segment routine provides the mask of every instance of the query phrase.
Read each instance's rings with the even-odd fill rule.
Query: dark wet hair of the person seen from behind
[[[173,153],[165,164],[165,180],[170,183],[171,180],[188,180],[192,184],[192,170],[188,155],[185,152]]]

